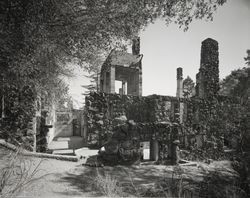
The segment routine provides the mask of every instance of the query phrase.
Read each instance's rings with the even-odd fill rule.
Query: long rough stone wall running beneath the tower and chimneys
[[[180,107],[183,111],[180,111]],[[223,144],[234,124],[232,113],[239,112],[238,99],[217,96],[214,100],[204,98],[176,98],[151,95],[137,97],[118,94],[91,93],[86,97],[85,118],[90,145],[103,145],[117,126],[116,119],[126,116],[138,126],[141,141],[155,137],[161,145],[172,140],[173,125],[178,126],[182,148],[202,148],[206,141]],[[233,112],[232,112],[233,111]],[[231,115],[231,116],[229,116]],[[236,121],[238,115],[234,115]],[[181,118],[181,121],[180,119]],[[163,125],[161,125],[163,124]],[[166,126],[170,129],[166,129]],[[169,135],[167,135],[170,133]]]

